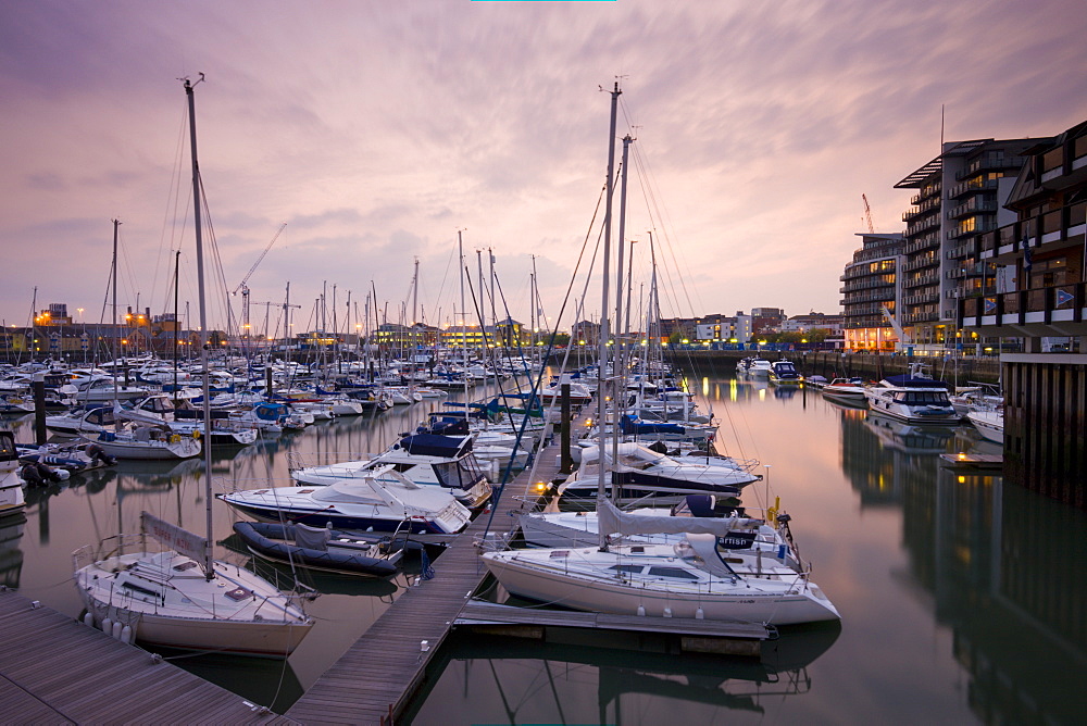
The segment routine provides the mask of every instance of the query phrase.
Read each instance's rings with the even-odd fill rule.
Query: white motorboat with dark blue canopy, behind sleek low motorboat
[[[290,476],[300,486],[327,486],[368,477],[396,484],[403,477],[418,486],[445,489],[470,509],[482,506],[491,492],[486,472],[473,451],[472,436],[415,434],[375,456],[295,468]]]

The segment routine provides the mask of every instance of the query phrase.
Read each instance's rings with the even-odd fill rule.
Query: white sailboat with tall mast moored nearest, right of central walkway
[[[608,184],[612,184],[619,84],[612,92]],[[625,166],[625,164],[624,164]],[[611,189],[604,215],[603,304],[599,341],[598,418],[605,421],[605,363],[609,338],[609,246]],[[600,426],[598,450],[616,446]],[[614,436],[614,434],[612,435]],[[835,621],[840,615],[812,583],[763,549],[717,549],[728,537],[727,520],[628,514],[604,496],[605,468],[597,467],[596,547],[513,549],[484,552],[487,569],[509,592],[545,603],[591,612],[657,617],[751,621],[770,625]],[[679,541],[613,542],[611,535],[683,535]]]

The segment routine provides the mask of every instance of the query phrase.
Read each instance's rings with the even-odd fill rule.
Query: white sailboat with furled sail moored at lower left
[[[197,200],[193,208],[200,329],[201,335],[207,335],[193,85],[185,79]],[[202,345],[200,349],[207,371],[207,347]],[[208,376],[203,378],[207,424],[211,411]],[[212,559],[211,506],[215,499],[211,492],[210,445],[204,447],[204,537],[143,512],[141,534],[116,535],[97,547],[84,547],[73,553],[75,581],[87,610],[86,621],[126,641],[286,658],[310,631],[313,619],[271,583],[240,566]],[[159,551],[149,550],[149,538],[158,541]]]

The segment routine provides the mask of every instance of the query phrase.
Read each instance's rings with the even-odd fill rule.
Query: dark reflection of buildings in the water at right
[[[939,439],[962,446],[951,443],[953,430],[874,430],[864,411],[841,415],[842,471],[864,505],[901,506],[902,591],[923,590],[951,629],[978,719],[1083,721],[1087,561],[1073,553],[1087,539],[1087,514],[999,476],[938,466]]]

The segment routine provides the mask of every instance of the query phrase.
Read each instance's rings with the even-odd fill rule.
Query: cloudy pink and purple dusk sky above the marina
[[[322,297],[325,328],[448,325],[475,308],[488,249],[500,317],[529,322],[535,265],[551,325],[598,318],[586,270],[616,82],[616,137],[634,139],[632,315],[648,304],[650,233],[665,316],[829,314],[866,229],[861,196],[877,231],[901,231],[913,192],[894,185],[938,154],[941,123],[964,140],[1087,120],[1087,13],[1074,0],[8,0],[5,325],[35,303],[110,320],[114,218],[122,310],[173,310],[180,249],[196,320],[178,79],[201,73],[211,324],[224,301],[240,316],[230,293],[260,261],[255,329],[282,325],[288,283],[296,330],[317,325]],[[617,198],[614,217],[617,239]]]

